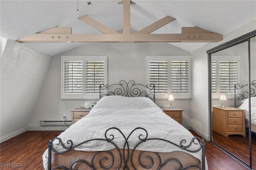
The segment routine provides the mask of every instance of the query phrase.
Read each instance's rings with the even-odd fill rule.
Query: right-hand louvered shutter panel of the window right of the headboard
[[[189,93],[189,61],[171,61],[171,92]]]

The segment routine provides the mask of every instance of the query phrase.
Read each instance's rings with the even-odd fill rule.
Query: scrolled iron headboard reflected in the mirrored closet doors
[[[248,86],[249,84],[243,85],[243,84],[235,84],[235,96],[234,96],[234,101],[235,101],[235,107],[239,107],[240,103],[239,101],[244,100],[249,98],[249,92],[248,89],[242,90],[244,87]],[[250,84],[250,94],[251,97],[256,97],[256,80],[253,80],[252,83]],[[236,89],[237,90],[242,90],[243,92],[240,91],[240,93],[236,94]],[[238,105],[237,105],[238,102]]]

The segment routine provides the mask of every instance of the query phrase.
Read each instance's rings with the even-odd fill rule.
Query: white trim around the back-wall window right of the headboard
[[[155,98],[159,100],[166,100],[169,98],[170,93],[170,62],[171,61],[181,61],[181,60],[188,60],[189,59],[189,90],[190,92],[187,94],[179,94],[179,93],[172,93],[174,98],[176,100],[191,100],[192,99],[192,60],[191,56],[147,56],[147,70],[146,70],[146,75],[147,75],[147,82],[146,84],[149,84],[149,62],[150,61],[164,61],[164,59],[167,58],[166,61],[168,61],[168,93],[167,94],[155,94]],[[159,58],[159,59],[158,59]],[[149,90],[148,90],[149,93]]]

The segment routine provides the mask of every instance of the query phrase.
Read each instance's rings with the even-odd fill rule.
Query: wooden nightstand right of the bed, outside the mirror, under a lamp
[[[183,109],[180,109],[179,107],[174,107],[174,108],[160,107],[160,108],[164,111],[166,115],[172,117],[172,119],[174,119],[175,121],[177,121],[182,125],[182,111],[184,111]]]

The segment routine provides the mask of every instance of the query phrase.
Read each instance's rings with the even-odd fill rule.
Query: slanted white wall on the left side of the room
[[[18,42],[7,41],[0,68],[1,139],[28,126],[51,59]]]

